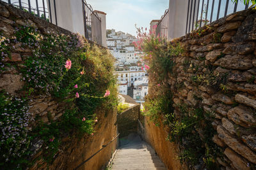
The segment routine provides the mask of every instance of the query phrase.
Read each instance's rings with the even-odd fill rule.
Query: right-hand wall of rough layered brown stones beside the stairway
[[[173,40],[185,50],[172,58],[175,66],[168,76],[174,113],[182,114],[180,106],[186,105],[189,109],[203,108],[205,115],[211,115],[209,120],[216,132],[212,141],[223,150],[223,156],[216,158],[220,169],[256,168],[255,40],[255,10],[228,15]],[[152,85],[150,93],[154,93]],[[163,124],[145,126],[149,131],[146,139],[169,169],[183,169],[174,168],[175,161],[168,165],[172,160],[166,158],[166,152],[174,160],[175,146],[163,141],[167,137]],[[162,139],[160,134],[164,134]]]

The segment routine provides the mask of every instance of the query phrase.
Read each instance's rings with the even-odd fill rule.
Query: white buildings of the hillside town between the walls
[[[119,93],[131,96],[137,103],[143,103],[148,94],[148,75],[143,69],[143,53],[132,43],[135,36],[115,29],[107,30],[108,49],[115,57],[115,74]]]

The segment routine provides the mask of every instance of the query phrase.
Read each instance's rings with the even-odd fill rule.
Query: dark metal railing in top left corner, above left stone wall
[[[54,23],[58,25],[57,15],[56,15],[56,3],[53,0],[53,4],[51,4],[51,0],[1,0],[8,4],[12,4],[13,6],[19,8],[23,11],[28,11],[29,13],[35,15],[36,17],[47,20],[52,23],[52,11],[54,11],[55,20]],[[51,6],[54,7],[54,10],[51,9]]]

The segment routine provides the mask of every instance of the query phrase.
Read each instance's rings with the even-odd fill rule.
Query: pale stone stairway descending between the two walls
[[[113,159],[112,170],[166,170],[154,149],[137,134],[120,139],[120,144]]]

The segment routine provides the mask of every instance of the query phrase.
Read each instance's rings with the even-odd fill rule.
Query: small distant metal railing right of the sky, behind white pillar
[[[164,11],[161,20],[158,22],[156,27],[156,36],[167,38],[168,37],[168,25],[169,25],[169,10]]]

